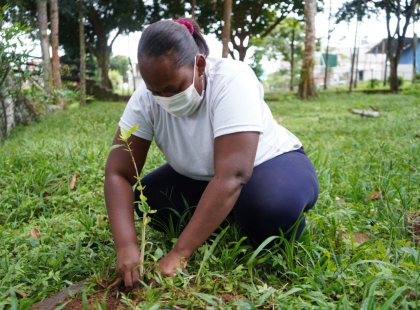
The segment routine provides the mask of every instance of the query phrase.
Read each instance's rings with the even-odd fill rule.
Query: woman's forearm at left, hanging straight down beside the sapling
[[[130,183],[118,174],[105,176],[105,203],[115,248],[137,244],[134,226],[134,194]]]

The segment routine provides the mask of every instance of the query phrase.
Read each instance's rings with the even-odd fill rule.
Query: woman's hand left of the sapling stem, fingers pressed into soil
[[[140,251],[137,244],[130,244],[116,249],[116,270],[124,279],[125,288],[131,290],[139,285],[140,271],[135,268],[140,263]]]

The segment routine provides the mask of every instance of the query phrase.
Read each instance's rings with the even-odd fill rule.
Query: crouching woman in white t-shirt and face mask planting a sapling
[[[119,121],[126,129],[139,124],[129,140],[139,169],[153,137],[167,159],[141,180],[147,202],[157,209],[153,215],[167,222],[168,207],[182,212],[183,199],[196,205],[175,246],[158,262],[163,276],[183,269],[230,212],[256,242],[279,229],[286,232],[297,220],[300,234],[302,211],[318,195],[312,163],[300,141],[273,119],[253,71],[241,61],[207,55],[194,21],[149,25],[137,52],[143,82]],[[113,144],[118,136],[119,129]],[[117,269],[127,288],[139,278],[133,270],[139,262],[134,174],[128,152],[116,148],[109,153],[105,201]]]

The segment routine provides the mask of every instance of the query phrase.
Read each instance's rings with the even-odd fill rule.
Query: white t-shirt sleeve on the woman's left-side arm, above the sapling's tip
[[[138,124],[138,128],[133,135],[149,141],[153,139],[153,117],[144,83],[131,95],[118,122],[119,127],[124,129],[129,129],[135,124]]]

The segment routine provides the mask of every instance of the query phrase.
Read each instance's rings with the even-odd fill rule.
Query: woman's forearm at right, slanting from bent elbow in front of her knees
[[[223,178],[214,176],[180,234],[174,250],[188,258],[229,214],[243,183],[242,179],[233,175]]]

